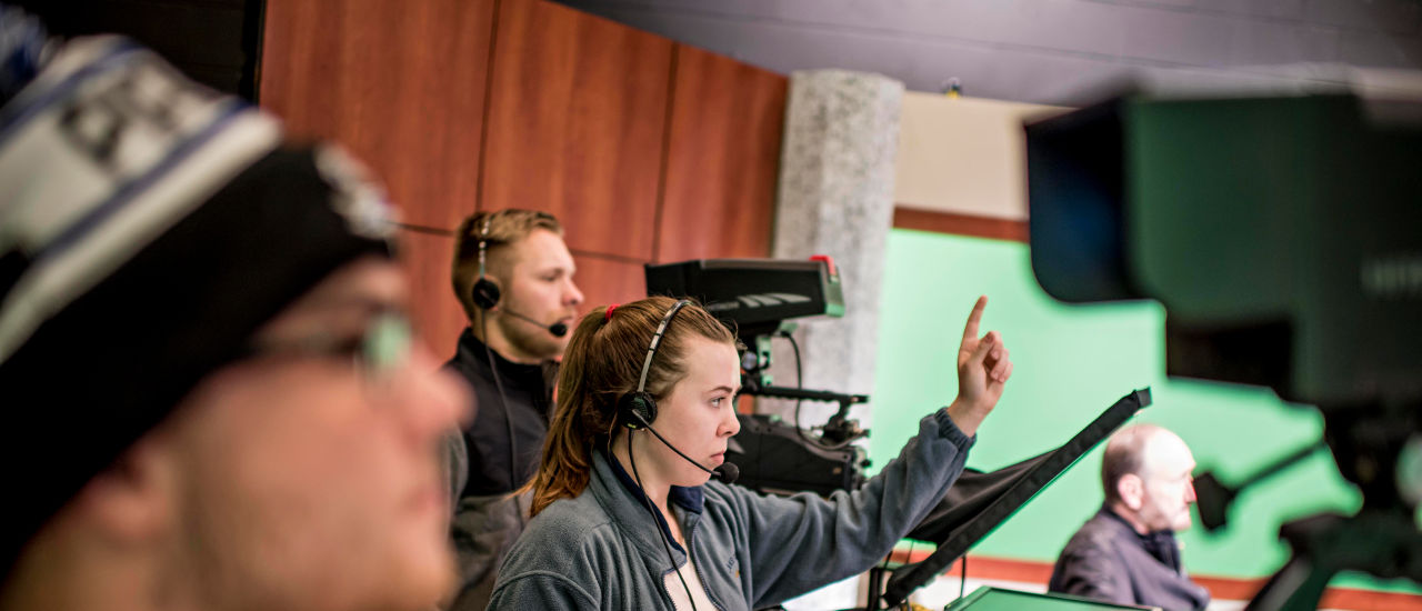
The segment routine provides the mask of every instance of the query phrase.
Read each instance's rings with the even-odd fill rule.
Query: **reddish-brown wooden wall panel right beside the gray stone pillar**
[[[766,257],[789,80],[677,45],[656,260]]]

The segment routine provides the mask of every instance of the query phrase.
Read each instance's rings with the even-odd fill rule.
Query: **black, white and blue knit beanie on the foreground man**
[[[199,379],[343,264],[390,256],[337,149],[118,37],[0,7],[0,570]]]

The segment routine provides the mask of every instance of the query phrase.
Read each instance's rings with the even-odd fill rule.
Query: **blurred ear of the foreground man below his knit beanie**
[[[115,543],[135,543],[161,533],[176,503],[173,446],[154,433],[139,439],[94,476],[74,499],[74,509]]]

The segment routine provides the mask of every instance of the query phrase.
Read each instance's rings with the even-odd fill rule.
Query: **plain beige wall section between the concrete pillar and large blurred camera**
[[[1027,220],[1022,121],[1066,108],[904,92],[894,203]]]

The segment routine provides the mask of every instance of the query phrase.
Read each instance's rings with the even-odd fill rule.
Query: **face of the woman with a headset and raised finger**
[[[734,401],[741,389],[741,362],[735,347],[704,337],[690,342],[685,359],[687,377],[657,402],[651,426],[687,456],[715,469],[725,462],[727,440],[741,431]],[[636,443],[651,453],[663,480],[673,486],[701,486],[711,479],[650,433],[637,433]]]

